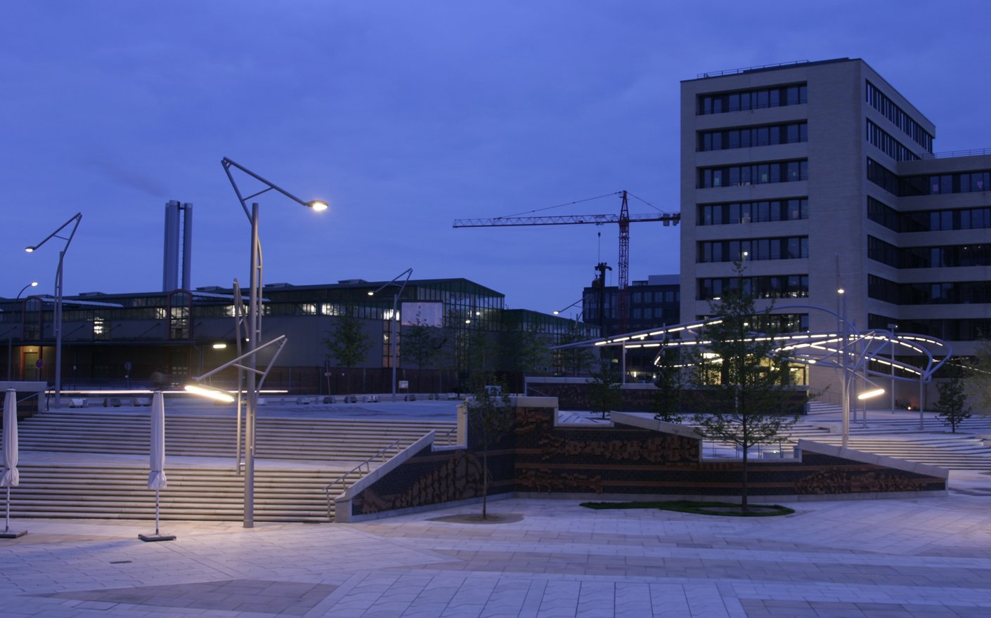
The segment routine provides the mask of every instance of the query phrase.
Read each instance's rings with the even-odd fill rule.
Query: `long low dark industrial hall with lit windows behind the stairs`
[[[271,283],[264,288],[263,341],[286,335],[271,380],[308,390],[326,390],[323,373],[327,349],[322,343],[336,316],[354,306],[377,342],[368,361],[358,368],[391,367],[390,327],[393,294],[398,287],[385,281],[350,279],[336,284],[291,285]],[[246,292],[245,292],[246,294]],[[245,297],[247,300],[247,296]],[[415,368],[401,360],[402,332],[419,320],[437,327],[438,345],[446,339],[450,355],[428,368],[465,372],[472,368],[473,348],[484,333],[495,350],[507,333],[535,333],[548,344],[575,329],[574,321],[529,311],[507,310],[504,295],[468,279],[410,280],[398,299],[402,327],[397,349],[399,367]],[[55,341],[52,296],[0,299],[0,333],[12,344],[11,373],[17,379],[54,379]],[[71,384],[121,384],[128,378],[148,380],[154,372],[179,382],[235,357],[234,296],[231,288],[210,286],[169,292],[103,294],[91,292],[64,299],[62,313],[62,382]],[[598,336],[593,325],[577,328],[588,338]],[[443,334],[442,334],[443,332]],[[473,343],[475,342],[475,343]],[[226,346],[217,348],[215,346]],[[260,363],[269,360],[260,354]],[[0,355],[0,374],[7,371],[7,355]],[[130,368],[128,368],[130,364]],[[335,364],[333,362],[331,365]],[[495,361],[487,368],[499,369]],[[553,357],[543,371],[553,373]],[[390,370],[383,373],[390,374]],[[376,373],[376,375],[378,375]]]

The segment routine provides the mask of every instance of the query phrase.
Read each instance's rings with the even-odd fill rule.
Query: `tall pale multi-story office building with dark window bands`
[[[934,154],[935,137],[861,59],[684,81],[681,315],[708,315],[741,260],[761,307],[835,308],[838,282],[858,327],[971,354],[991,332],[991,151]],[[778,313],[794,330],[835,328],[822,312]]]

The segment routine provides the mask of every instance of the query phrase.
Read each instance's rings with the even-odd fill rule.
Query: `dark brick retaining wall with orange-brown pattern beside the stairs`
[[[552,408],[517,408],[513,430],[490,444],[490,493],[737,496],[740,462],[702,461],[700,442],[629,425],[553,426]],[[354,515],[482,495],[478,440],[460,451],[424,449],[352,502]],[[945,479],[805,453],[752,460],[752,495],[827,495],[946,488]]]

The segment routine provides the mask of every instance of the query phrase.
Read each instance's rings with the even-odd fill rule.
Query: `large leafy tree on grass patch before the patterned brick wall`
[[[774,305],[756,311],[754,297],[743,285],[743,270],[736,262],[735,286],[710,303],[713,315],[722,320],[700,334],[709,343],[694,360],[703,412],[693,420],[706,438],[743,450],[740,506],[746,511],[748,450],[778,441],[810,397],[789,388],[788,355],[776,351],[774,343],[782,332],[771,316]],[[789,407],[795,411],[788,412]]]

